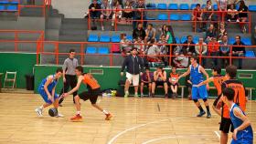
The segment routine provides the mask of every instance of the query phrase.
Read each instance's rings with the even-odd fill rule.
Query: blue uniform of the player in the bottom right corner
[[[234,129],[240,127],[240,125],[243,123],[243,121],[240,119],[240,118],[237,118],[234,114],[234,108],[239,108],[240,107],[237,105],[237,104],[233,104],[231,109],[230,109],[230,119],[233,123],[233,126],[234,126]],[[244,112],[240,109],[240,111],[242,112],[243,115]],[[240,130],[238,131],[237,133],[237,140],[234,140],[233,139],[233,143],[236,143],[236,141],[251,141],[251,142],[248,142],[248,143],[251,143],[252,144],[252,139],[253,139],[253,132],[252,132],[252,128],[251,128],[251,125],[249,127],[247,127],[246,129],[243,129],[243,130]]]

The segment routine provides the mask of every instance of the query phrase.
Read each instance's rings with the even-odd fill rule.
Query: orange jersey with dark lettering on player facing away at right
[[[245,88],[243,84],[236,79],[226,80],[222,83],[222,88],[230,87],[235,90],[234,102],[240,106],[242,111],[245,111],[246,108],[246,96]],[[222,108],[222,117],[229,118],[229,107],[224,104]]]

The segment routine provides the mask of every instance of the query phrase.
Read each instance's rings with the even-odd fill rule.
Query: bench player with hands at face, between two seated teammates
[[[154,72],[154,82],[152,83],[152,97],[155,97],[155,87],[158,86],[162,86],[165,88],[165,98],[168,98],[167,77],[163,67],[157,67]]]

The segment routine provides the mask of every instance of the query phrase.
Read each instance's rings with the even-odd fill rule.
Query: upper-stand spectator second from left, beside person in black
[[[101,4],[101,30],[104,30],[103,19],[111,19],[112,18],[112,6],[108,2],[108,0],[103,0]]]

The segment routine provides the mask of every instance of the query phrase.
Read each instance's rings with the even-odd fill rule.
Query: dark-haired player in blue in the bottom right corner
[[[226,87],[222,91],[222,101],[229,107],[229,115],[234,126],[231,144],[252,144],[253,131],[251,122],[241,108],[234,103],[235,91]]]

